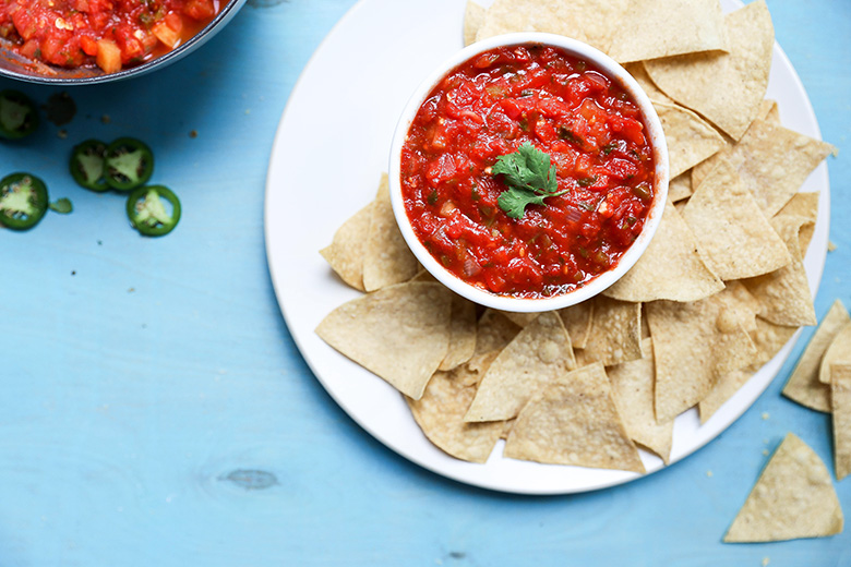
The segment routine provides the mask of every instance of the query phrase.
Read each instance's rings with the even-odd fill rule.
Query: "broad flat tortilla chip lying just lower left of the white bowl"
[[[332,311],[316,334],[340,353],[419,399],[446,355],[452,292],[439,284],[399,284]]]

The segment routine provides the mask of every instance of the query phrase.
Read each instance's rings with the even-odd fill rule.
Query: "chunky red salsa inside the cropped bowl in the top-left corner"
[[[218,10],[218,0],[0,0],[0,38],[45,63],[115,73],[176,48]]]

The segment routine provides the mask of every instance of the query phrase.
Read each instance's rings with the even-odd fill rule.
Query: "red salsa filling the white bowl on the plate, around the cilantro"
[[[624,88],[562,49],[480,53],[432,89],[409,128],[400,183],[413,232],[486,291],[568,292],[611,269],[644,228],[655,195],[645,134]],[[549,156],[556,191],[513,218],[494,166],[528,145]]]

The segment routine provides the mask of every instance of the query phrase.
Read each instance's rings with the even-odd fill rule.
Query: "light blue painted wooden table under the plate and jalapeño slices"
[[[408,1],[408,0],[406,0]],[[590,494],[518,497],[409,463],[325,394],[284,324],[263,240],[275,128],[313,50],[355,0],[249,0],[189,58],[74,88],[74,119],[0,143],[71,215],[0,230],[0,566],[851,565],[837,536],[721,538],[787,432],[832,470],[829,417],[780,396],[682,462]],[[769,0],[829,160],[830,239],[816,312],[851,305],[851,3]],[[413,24],[416,25],[416,23]],[[39,104],[59,88],[0,81]],[[163,239],[124,202],[73,184],[70,148],[132,135],[184,214]],[[796,345],[795,359],[813,329]],[[837,483],[851,517],[851,480]]]

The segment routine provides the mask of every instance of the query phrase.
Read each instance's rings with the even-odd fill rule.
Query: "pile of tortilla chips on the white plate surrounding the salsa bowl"
[[[816,323],[803,256],[818,195],[799,189],[832,147],[784,129],[764,100],[774,28],[762,0],[727,15],[717,0],[467,4],[466,41],[518,31],[595,45],[654,100],[675,179],[650,246],[582,304],[486,310],[418,274],[385,178],[322,251],[365,293],[316,331],[401,391],[452,456],[484,462],[504,438],[504,457],[640,473],[638,445],[668,462],[679,414],[698,407],[705,422]]]

